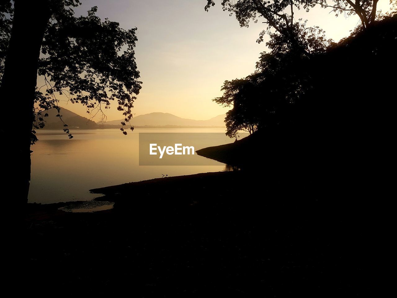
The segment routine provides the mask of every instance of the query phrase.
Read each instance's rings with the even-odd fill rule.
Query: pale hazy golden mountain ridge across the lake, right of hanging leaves
[[[218,115],[214,118],[208,120],[193,120],[185,119],[175,116],[170,113],[160,113],[154,112],[150,114],[139,115],[133,117],[131,120],[131,125],[135,127],[140,126],[220,126],[225,127],[225,114]],[[120,125],[120,122],[124,120],[113,120],[108,121],[106,124]]]

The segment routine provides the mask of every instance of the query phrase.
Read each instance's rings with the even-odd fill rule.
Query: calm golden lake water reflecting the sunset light
[[[117,129],[75,130],[73,139],[60,130],[42,130],[37,134],[39,141],[32,146],[29,202],[89,200],[98,196],[89,193],[92,188],[161,178],[162,174],[225,170],[225,164],[216,161],[208,166],[139,166],[139,132],[224,133],[224,129],[135,129],[127,136]],[[211,145],[233,142],[224,134],[214,135],[217,137]]]

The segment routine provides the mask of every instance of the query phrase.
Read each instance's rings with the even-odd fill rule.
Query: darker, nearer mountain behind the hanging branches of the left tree
[[[59,117],[56,117],[58,111],[54,108],[47,111],[48,117],[44,117],[46,121],[46,125],[44,129],[63,129],[64,123],[60,120]],[[95,129],[100,128],[94,122],[89,120],[88,118],[82,117],[73,113],[72,111],[67,110],[66,108],[61,108],[60,114],[62,115],[62,120],[64,120],[65,124],[68,125],[68,128],[80,128],[80,129]]]

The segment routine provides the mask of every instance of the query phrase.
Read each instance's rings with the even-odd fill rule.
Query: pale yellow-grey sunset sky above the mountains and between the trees
[[[220,0],[209,12],[204,10],[206,0],[81,2],[74,9],[78,16],[98,6],[97,15],[102,20],[108,17],[124,29],[138,28],[135,58],[143,85],[134,104],[134,116],[164,112],[206,120],[224,114],[229,108],[212,101],[222,95],[223,82],[254,72],[260,52],[268,51],[265,43],[256,43],[260,31],[266,28],[263,20],[241,28],[234,16],[222,11]],[[387,11],[389,0],[380,0],[380,9]],[[355,15],[335,17],[330,11],[320,7],[308,13],[300,10],[295,12],[295,19],[307,19],[309,26],[317,25],[326,31],[327,38],[339,41],[349,35],[359,19]],[[87,117],[81,104],[60,99],[60,106]],[[123,118],[117,103],[111,104],[106,116],[108,120]]]

